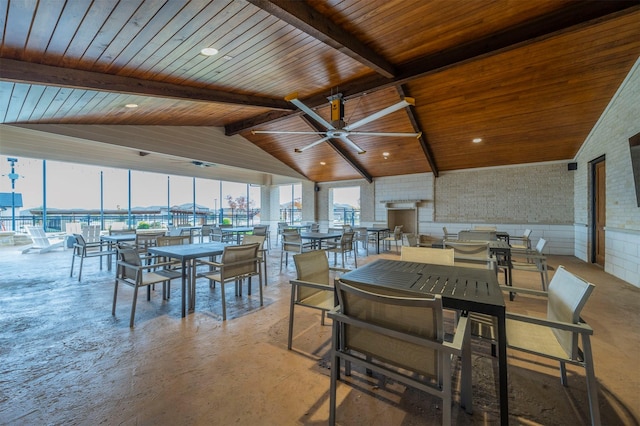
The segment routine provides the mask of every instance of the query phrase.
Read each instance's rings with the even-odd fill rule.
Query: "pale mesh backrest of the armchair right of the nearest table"
[[[577,324],[580,312],[595,286],[559,266],[549,283],[547,319]],[[578,355],[578,333],[552,329],[567,356],[576,359]]]

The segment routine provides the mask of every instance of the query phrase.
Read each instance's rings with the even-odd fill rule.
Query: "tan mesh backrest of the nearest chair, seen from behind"
[[[433,295],[389,296],[336,281],[341,313],[361,321],[345,324],[341,344],[392,365],[442,380],[442,363],[437,347],[426,347],[381,333],[371,326],[411,334],[416,338],[442,343],[442,300]]]

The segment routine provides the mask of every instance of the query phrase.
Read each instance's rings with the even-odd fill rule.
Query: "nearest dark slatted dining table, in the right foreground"
[[[496,317],[500,423],[509,423],[506,306],[494,271],[378,259],[345,273],[340,279],[346,283],[393,288],[407,295],[436,294],[442,297],[445,308]]]

